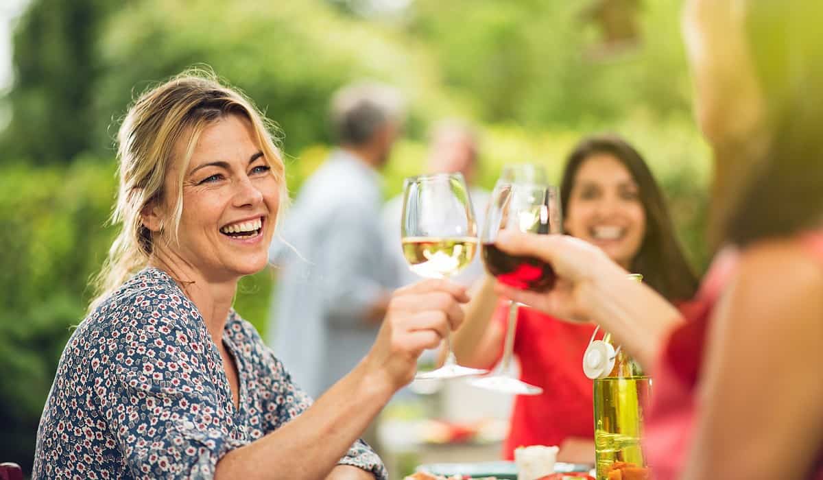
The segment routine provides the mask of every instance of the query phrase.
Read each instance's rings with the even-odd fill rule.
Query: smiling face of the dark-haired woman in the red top
[[[574,175],[566,210],[567,233],[630,268],[643,245],[646,214],[639,187],[620,161],[606,153],[584,160]]]

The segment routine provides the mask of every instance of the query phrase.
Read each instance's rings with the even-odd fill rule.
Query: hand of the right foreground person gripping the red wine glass
[[[520,290],[500,282],[495,290],[501,296],[560,319],[591,321],[591,305],[584,301],[585,289],[607,275],[625,276],[625,271],[601,249],[568,235],[501,231],[496,245],[506,253],[529,255],[549,263],[555,270],[557,282],[549,291]]]

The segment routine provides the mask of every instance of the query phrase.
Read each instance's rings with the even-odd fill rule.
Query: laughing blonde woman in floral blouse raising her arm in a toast
[[[176,77],[129,110],[119,178],[122,231],[60,359],[33,477],[385,478],[358,436],[461,322],[463,287],[395,292],[374,347],[312,405],[231,308],[286,198],[261,114],[211,77]]]

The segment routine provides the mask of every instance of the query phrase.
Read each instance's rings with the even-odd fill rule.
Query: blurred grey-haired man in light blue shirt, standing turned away
[[[306,180],[269,260],[279,275],[269,344],[314,398],[368,352],[396,273],[380,224],[378,171],[403,118],[387,86],[347,86],[332,99],[338,148]]]

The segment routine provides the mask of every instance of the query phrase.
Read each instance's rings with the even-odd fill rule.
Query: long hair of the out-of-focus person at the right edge
[[[823,2],[746,2],[746,40],[765,100],[769,147],[725,229],[747,245],[823,221]]]

